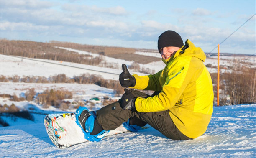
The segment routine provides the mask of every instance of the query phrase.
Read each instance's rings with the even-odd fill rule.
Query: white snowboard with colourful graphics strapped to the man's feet
[[[92,111],[92,113],[96,115],[96,111]],[[75,113],[46,115],[44,125],[52,143],[58,148],[68,148],[76,144],[88,142],[84,138],[82,128],[76,123]],[[142,129],[146,128],[148,127],[143,127]],[[115,130],[109,131],[105,137],[125,132],[128,132],[128,130],[121,125]]]

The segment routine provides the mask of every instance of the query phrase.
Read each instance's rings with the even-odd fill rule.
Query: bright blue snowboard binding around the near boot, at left
[[[90,133],[94,128],[94,120],[96,115],[90,112],[86,107],[79,107],[76,110],[76,123],[83,129],[84,138],[90,141],[100,141],[109,131],[102,130],[96,135],[91,135]]]

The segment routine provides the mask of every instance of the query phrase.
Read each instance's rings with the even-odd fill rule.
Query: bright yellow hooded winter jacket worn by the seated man
[[[132,88],[160,91],[154,97],[138,97],[138,112],[169,110],[176,127],[187,137],[197,138],[205,133],[213,112],[212,79],[203,62],[205,53],[187,40],[189,47],[179,49],[174,56],[163,60],[166,66],[154,75],[133,74]]]

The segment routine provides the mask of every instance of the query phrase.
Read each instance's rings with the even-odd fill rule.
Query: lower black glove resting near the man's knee
[[[137,111],[135,108],[136,97],[134,97],[134,95],[128,89],[125,88],[124,91],[125,93],[123,94],[120,100],[120,106],[123,109]]]

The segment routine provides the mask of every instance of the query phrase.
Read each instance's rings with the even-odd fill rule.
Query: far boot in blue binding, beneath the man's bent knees
[[[131,117],[127,122],[123,122],[123,127],[128,131],[137,132],[146,124],[146,122],[139,120],[138,117]]]

